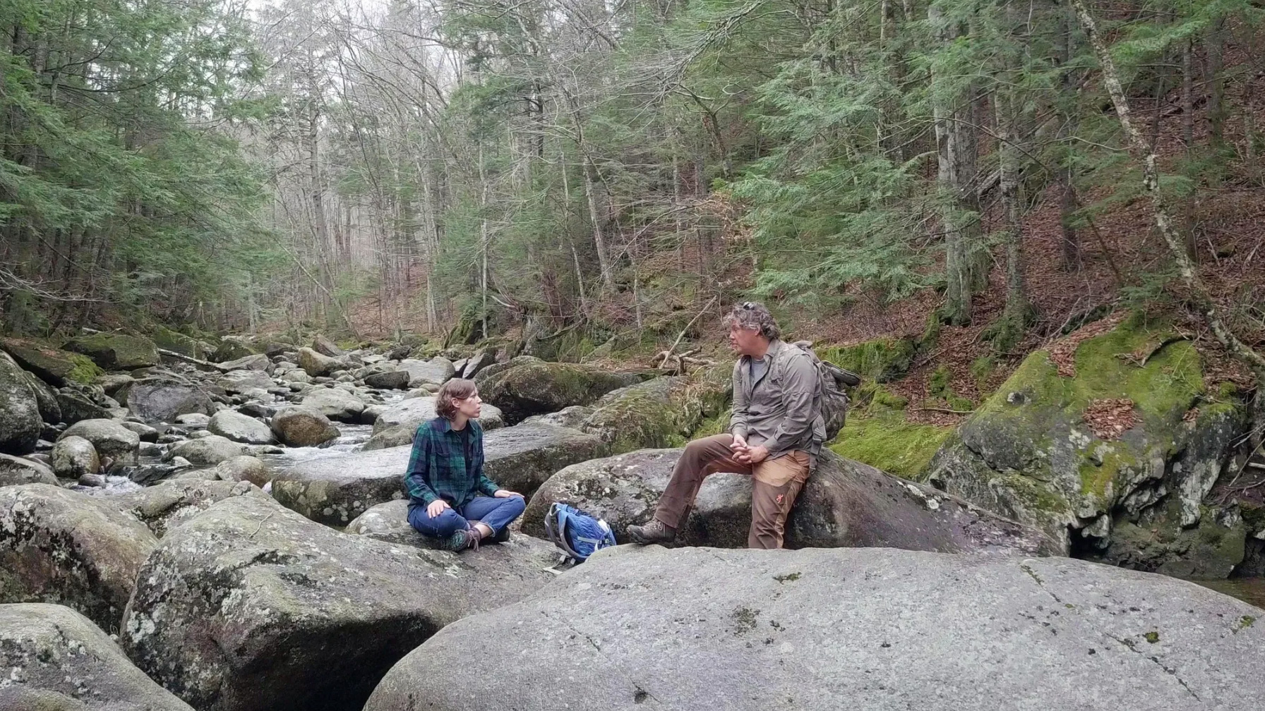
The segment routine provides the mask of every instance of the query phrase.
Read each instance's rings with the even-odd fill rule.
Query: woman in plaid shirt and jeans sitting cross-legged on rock
[[[521,493],[483,473],[483,428],[476,420],[482,405],[472,381],[453,378],[435,393],[439,416],[412,436],[404,476],[409,524],[449,550],[478,548],[484,538],[509,540],[510,522],[526,509]]]

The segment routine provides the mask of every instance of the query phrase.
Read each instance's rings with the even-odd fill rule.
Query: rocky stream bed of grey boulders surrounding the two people
[[[544,710],[559,689],[593,708],[1247,710],[1265,691],[1259,583],[1219,583],[1240,601],[1064,558],[1051,516],[831,453],[788,521],[799,550],[741,549],[750,482],[716,474],[686,548],[546,572],[548,504],[622,540],[727,406],[727,369],[239,345],[213,363],[114,334],[0,343],[0,710]],[[488,402],[488,474],[529,498],[509,543],[460,555],[409,528],[402,488],[454,376]]]

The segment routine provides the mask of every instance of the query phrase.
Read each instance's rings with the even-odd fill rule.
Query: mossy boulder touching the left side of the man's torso
[[[616,453],[681,447],[705,417],[720,414],[731,392],[729,368],[654,378],[603,395],[581,429]]]

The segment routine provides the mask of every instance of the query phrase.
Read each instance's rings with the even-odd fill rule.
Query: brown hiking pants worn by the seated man
[[[751,533],[748,548],[782,548],[787,515],[808,481],[808,453],[789,452],[777,459],[744,464],[734,458],[734,435],[717,434],[696,439],[672,471],[672,481],[659,498],[654,517],[673,529],[681,529],[698,496],[707,474],[737,472],[751,476]]]

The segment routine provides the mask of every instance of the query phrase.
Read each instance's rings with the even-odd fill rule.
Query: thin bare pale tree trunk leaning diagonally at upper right
[[[1116,106],[1120,125],[1125,129],[1130,153],[1133,156],[1133,159],[1142,164],[1142,187],[1151,199],[1155,226],[1164,238],[1164,243],[1168,245],[1169,253],[1178,266],[1178,273],[1190,292],[1190,300],[1217,340],[1226,347],[1231,356],[1251,368],[1257,383],[1265,383],[1265,357],[1240,340],[1230,326],[1226,325],[1222,309],[1212,300],[1212,296],[1203,285],[1203,280],[1195,273],[1194,263],[1190,261],[1189,254],[1187,254],[1185,243],[1173,225],[1169,207],[1165,204],[1164,195],[1160,192],[1160,176],[1155,166],[1155,148],[1147,145],[1142,133],[1133,124],[1132,111],[1128,108],[1128,96],[1126,96],[1125,87],[1120,82],[1120,75],[1116,72],[1116,63],[1111,57],[1111,52],[1107,49],[1103,38],[1098,34],[1098,25],[1094,22],[1093,14],[1089,13],[1089,8],[1085,6],[1084,0],[1071,0],[1071,5],[1077,9],[1080,24],[1089,37],[1089,44],[1098,57],[1098,63],[1103,72],[1103,83],[1107,86],[1107,92]]]

